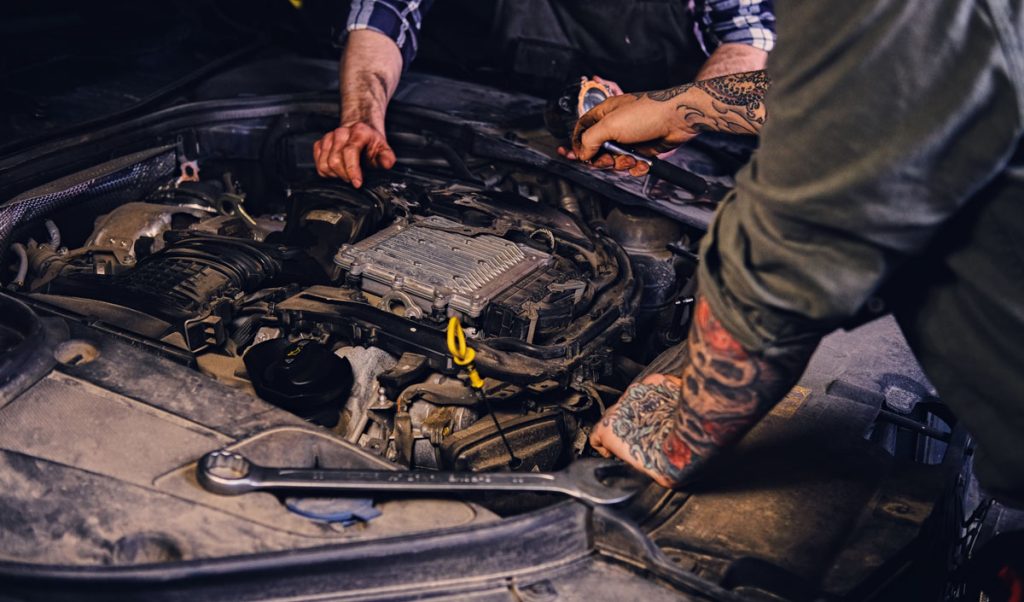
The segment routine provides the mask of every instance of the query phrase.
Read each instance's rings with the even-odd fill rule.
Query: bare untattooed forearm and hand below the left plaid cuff
[[[358,188],[361,161],[380,169],[395,163],[384,135],[384,115],[401,76],[401,52],[383,34],[354,31],[348,35],[340,71],[341,126],[313,143],[313,160],[321,176],[338,177]]]

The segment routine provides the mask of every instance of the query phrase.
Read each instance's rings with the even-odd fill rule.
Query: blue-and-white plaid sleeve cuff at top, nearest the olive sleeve
[[[773,0],[697,0],[705,48],[748,44],[766,52],[775,47]]]

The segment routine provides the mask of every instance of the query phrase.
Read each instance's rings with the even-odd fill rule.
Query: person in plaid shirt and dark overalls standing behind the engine
[[[451,2],[452,0],[446,0]],[[775,44],[773,0],[466,0],[489,42],[452,52],[481,54],[503,81],[551,93],[565,80],[597,73],[626,89],[763,69]],[[362,185],[362,163],[390,169],[384,117],[402,71],[417,54],[433,0],[352,0],[340,62],[341,123],[313,144],[316,171]],[[487,23],[489,22],[489,23]],[[467,36],[456,24],[449,38]],[[462,28],[463,31],[460,32]]]

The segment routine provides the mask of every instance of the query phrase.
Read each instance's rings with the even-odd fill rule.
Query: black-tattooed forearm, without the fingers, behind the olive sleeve
[[[753,71],[633,95],[677,102],[676,111],[696,130],[757,134],[767,117],[764,98],[770,85],[766,72]]]

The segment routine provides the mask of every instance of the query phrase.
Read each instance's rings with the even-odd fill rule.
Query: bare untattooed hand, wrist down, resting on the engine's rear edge
[[[362,185],[362,159],[379,169],[391,169],[395,163],[384,132],[366,123],[342,126],[313,143],[316,173],[341,178],[356,188]]]

